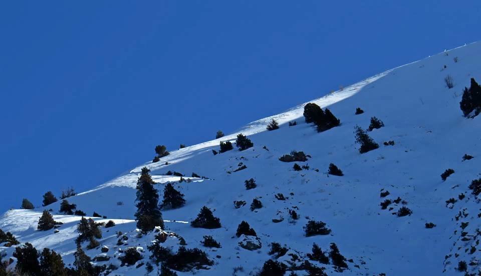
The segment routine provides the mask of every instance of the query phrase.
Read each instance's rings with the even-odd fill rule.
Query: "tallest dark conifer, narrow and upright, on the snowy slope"
[[[164,228],[162,213],[159,209],[159,194],[154,187],[154,181],[150,177],[149,169],[142,168],[139,179],[137,180],[137,198],[135,199],[137,211],[135,218],[137,220],[137,228],[142,231],[151,231],[155,226]]]

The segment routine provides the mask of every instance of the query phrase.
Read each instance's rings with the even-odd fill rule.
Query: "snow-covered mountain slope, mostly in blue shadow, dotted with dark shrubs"
[[[320,265],[326,267],[328,274],[456,275],[462,273],[456,270],[461,260],[468,263],[469,272],[477,272],[481,268],[478,263],[481,247],[472,251],[471,246],[475,247],[478,242],[481,219],[477,214],[481,206],[468,185],[479,177],[481,118],[463,117],[459,101],[462,88],[469,86],[471,77],[481,80],[479,64],[480,43],[445,51],[312,100],[323,108],[329,107],[341,120],[338,127],[317,132],[312,124],[304,122],[303,103],[251,122],[220,139],[172,150],[159,162],[148,161],[130,173],[68,200],[87,214],[95,211],[107,216],[107,219],[96,220],[116,222],[114,227],[102,228],[103,238],[99,240],[110,248],[108,255],[117,256],[119,249],[129,246],[142,246],[142,261],[147,262],[150,252],[146,247],[153,234],[139,237],[133,219],[136,182],[141,168],[148,167],[160,195],[168,181],[185,194],[183,207],[164,210],[162,214],[166,230],[182,236],[188,248],[201,248],[214,260],[210,269],[195,270],[199,275],[230,275],[233,268],[239,266],[243,269],[236,275],[256,273],[266,260],[273,258],[268,254],[271,242],[289,248],[280,261],[290,260],[289,253],[306,259],[305,254],[311,252],[314,242],[325,251],[335,242],[352,262],[348,262],[349,268],[343,272],[335,271],[332,264]],[[447,75],[454,80],[451,89],[444,82]],[[356,115],[356,107],[365,112]],[[354,126],[367,128],[372,116],[385,124],[369,132],[380,147],[361,154],[355,143]],[[273,118],[279,121],[280,128],[267,131],[266,125]],[[297,125],[289,126],[288,122],[294,120]],[[239,151],[234,146],[233,150],[212,154],[212,149],[218,151],[220,140],[233,142],[238,133],[248,135],[254,147]],[[388,140],[394,140],[395,144],[383,145]],[[308,164],[309,169],[295,171],[293,162],[279,160],[292,150],[311,156],[306,162],[297,162]],[[463,161],[465,153],[474,158]],[[344,176],[327,174],[331,162],[343,170]],[[247,168],[234,171],[240,165]],[[440,174],[447,168],[455,172],[443,181]],[[165,175],[169,170],[185,176],[195,172],[206,178],[184,177],[191,181],[178,182],[179,176]],[[244,181],[250,178],[256,180],[257,187],[247,190]],[[380,197],[381,190],[388,190],[390,194]],[[278,200],[275,197],[278,193],[288,198]],[[465,197],[459,199],[461,193]],[[381,209],[380,202],[397,197],[404,203],[392,203],[392,210]],[[446,200],[451,197],[456,202],[447,204]],[[261,200],[263,207],[251,211],[249,205],[254,198]],[[245,200],[247,204],[235,208],[234,200]],[[221,228],[190,226],[188,222],[204,205],[220,218]],[[403,205],[412,210],[411,215],[393,214]],[[80,216],[54,215],[56,220],[64,222],[58,228],[60,231],[38,231],[37,222],[44,208],[9,210],[0,217],[0,228],[38,249],[55,250],[62,254],[66,264],[72,264]],[[58,213],[60,201],[48,208]],[[298,220],[290,219],[292,209],[300,214]],[[281,218],[284,220],[277,223],[272,220]],[[306,237],[303,226],[310,219],[326,222],[331,234]],[[243,220],[258,233],[260,249],[250,251],[239,247],[242,237],[237,238],[235,232]],[[427,222],[436,226],[425,228]],[[466,226],[465,222],[469,224]],[[126,233],[128,244],[116,245],[117,231]],[[204,235],[212,235],[222,247],[203,247],[200,241]],[[164,246],[176,248],[179,240],[169,237]],[[10,256],[14,249],[2,247],[0,250]],[[94,257],[101,252],[98,248],[86,253]],[[112,272],[114,275],[146,273],[145,265],[120,267],[116,257],[96,263],[118,266]],[[156,275],[158,269],[155,265],[154,268],[152,275]],[[305,271],[296,273],[306,274]]]

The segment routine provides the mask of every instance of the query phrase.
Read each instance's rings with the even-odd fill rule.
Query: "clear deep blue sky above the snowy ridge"
[[[3,1],[0,211],[479,39],[478,0]]]

